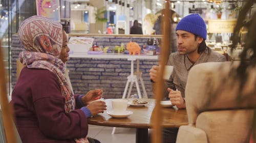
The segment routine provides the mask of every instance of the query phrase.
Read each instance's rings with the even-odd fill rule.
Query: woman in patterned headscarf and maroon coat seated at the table
[[[89,104],[102,90],[72,94],[64,76],[70,49],[62,25],[32,16],[20,25],[18,36],[25,48],[19,60],[26,65],[12,92],[20,138],[26,143],[88,143],[87,118],[106,110],[106,105]]]

